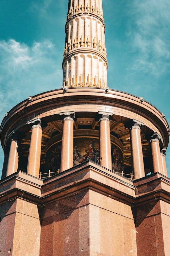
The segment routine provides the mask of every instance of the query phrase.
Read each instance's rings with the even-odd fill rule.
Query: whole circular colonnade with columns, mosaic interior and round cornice
[[[46,177],[86,160],[131,179],[150,172],[167,176],[166,119],[120,91],[81,87],[36,95],[8,112],[0,132],[2,178],[18,170]]]

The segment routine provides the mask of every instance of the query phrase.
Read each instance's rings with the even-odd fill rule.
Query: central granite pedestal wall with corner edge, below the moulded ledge
[[[42,215],[40,256],[137,255],[131,207],[96,191],[50,203]]]

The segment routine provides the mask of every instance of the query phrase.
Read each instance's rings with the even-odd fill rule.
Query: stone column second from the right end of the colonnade
[[[151,152],[152,152],[152,163],[153,172],[160,172],[163,174],[162,160],[160,156],[159,140],[160,136],[157,132],[153,133],[150,140]]]

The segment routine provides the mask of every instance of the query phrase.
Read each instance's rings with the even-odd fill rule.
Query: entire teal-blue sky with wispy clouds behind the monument
[[[67,6],[0,0],[0,120],[29,95],[61,88]],[[170,0],[103,0],[108,86],[142,96],[170,123],[169,10]],[[166,161],[170,176],[170,146]]]

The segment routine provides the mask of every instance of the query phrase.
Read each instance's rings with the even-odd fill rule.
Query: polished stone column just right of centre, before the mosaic
[[[109,113],[99,112],[100,165],[112,170],[111,134]]]

